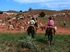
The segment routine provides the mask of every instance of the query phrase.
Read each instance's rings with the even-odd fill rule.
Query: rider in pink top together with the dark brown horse
[[[45,36],[48,35],[48,40],[50,41],[50,44],[53,40],[53,34],[55,35],[55,28],[54,26],[54,21],[52,20],[52,17],[49,17],[49,21],[47,23],[48,27],[45,30]]]

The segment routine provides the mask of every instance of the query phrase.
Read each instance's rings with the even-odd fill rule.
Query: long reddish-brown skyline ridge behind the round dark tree
[[[47,15],[52,15],[52,14],[57,14],[57,13],[70,13],[70,10],[56,11],[56,10],[36,9],[36,10],[27,11],[25,12],[25,14],[39,14],[42,11]]]

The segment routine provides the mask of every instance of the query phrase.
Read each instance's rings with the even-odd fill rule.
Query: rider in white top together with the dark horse
[[[36,28],[34,26],[35,21],[33,20],[33,18],[32,18],[32,20],[30,20],[29,24],[30,24],[30,26],[27,29],[27,33],[28,33],[28,35],[31,35],[32,38],[34,38],[34,35],[36,34]]]

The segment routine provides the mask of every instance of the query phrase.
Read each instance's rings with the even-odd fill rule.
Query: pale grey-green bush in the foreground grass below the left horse
[[[36,44],[30,36],[27,36],[25,39],[19,40],[18,42],[17,46],[19,48],[28,48],[28,51],[30,52],[37,52]]]

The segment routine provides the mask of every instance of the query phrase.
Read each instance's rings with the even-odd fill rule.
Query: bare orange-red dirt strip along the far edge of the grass
[[[0,27],[0,32],[11,32],[11,33],[21,33],[20,30],[18,29],[14,29],[14,30],[8,30],[7,28],[2,28]],[[26,30],[22,31],[22,32],[26,32]],[[37,33],[45,33],[45,30],[41,30],[41,29],[38,29]],[[57,26],[57,32],[56,34],[70,34],[70,28],[68,27],[61,27],[61,26]]]

